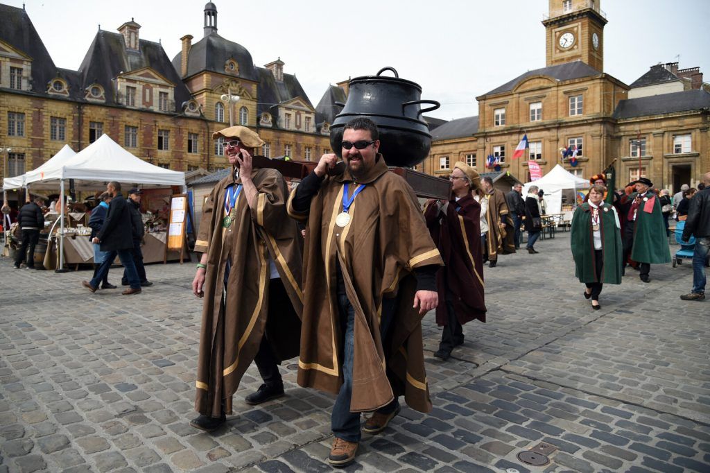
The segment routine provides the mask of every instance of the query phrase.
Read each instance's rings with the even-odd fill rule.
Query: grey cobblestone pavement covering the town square
[[[537,249],[486,268],[489,322],[466,325],[449,361],[432,357],[440,332],[427,315],[434,410],[403,408],[364,435],[346,471],[710,471],[710,305],[679,300],[689,263],[652,266],[650,284],[629,271],[593,311],[569,234]],[[282,366],[288,396],[247,406],[252,367],[224,428],[190,428],[193,274],[151,265],[155,286],[124,297],[82,288],[89,271],[0,261],[0,472],[330,471],[333,400],[295,384],[295,360]],[[518,460],[541,442],[556,449],[548,464]]]

